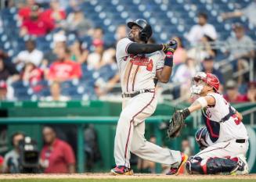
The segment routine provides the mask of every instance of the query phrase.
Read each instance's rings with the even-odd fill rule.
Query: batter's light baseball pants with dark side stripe
[[[157,107],[155,93],[142,93],[133,98],[124,98],[121,116],[117,123],[114,141],[114,159],[117,166],[130,167],[130,152],[142,159],[176,167],[181,162],[181,153],[146,141],[145,120]]]

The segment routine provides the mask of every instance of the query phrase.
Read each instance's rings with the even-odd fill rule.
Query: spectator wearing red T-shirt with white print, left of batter
[[[70,61],[68,48],[59,48],[56,52],[58,59],[52,63],[46,77],[49,80],[66,81],[81,77],[81,65],[78,62]]]

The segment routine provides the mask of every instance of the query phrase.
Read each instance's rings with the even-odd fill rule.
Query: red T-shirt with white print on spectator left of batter
[[[81,77],[81,66],[70,60],[53,62],[49,70],[49,80],[70,80]]]

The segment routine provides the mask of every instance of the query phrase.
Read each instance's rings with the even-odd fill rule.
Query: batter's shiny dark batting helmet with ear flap
[[[152,35],[152,28],[151,28],[150,24],[147,23],[147,21],[144,19],[137,19],[133,22],[127,23],[127,26],[131,29],[132,29],[132,26],[134,26],[134,25],[141,28],[141,30],[139,32],[140,40],[147,42]]]

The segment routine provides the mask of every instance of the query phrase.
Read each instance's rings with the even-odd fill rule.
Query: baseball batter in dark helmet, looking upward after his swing
[[[154,78],[168,82],[172,70],[172,55],[177,48],[169,44],[146,44],[152,35],[146,20],[128,22],[128,37],[117,43],[117,65],[121,75],[122,112],[114,141],[114,175],[132,175],[130,152],[142,159],[171,166],[181,166],[186,156],[181,152],[161,148],[146,141],[145,120],[157,107]]]

